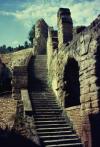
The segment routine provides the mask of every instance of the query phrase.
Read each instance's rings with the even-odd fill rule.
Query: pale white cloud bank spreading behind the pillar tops
[[[16,12],[0,11],[0,15],[13,16],[17,21],[29,29],[39,18],[44,18],[50,25],[57,25],[57,11],[59,7],[70,8],[74,25],[89,25],[99,11],[99,0],[45,0],[45,3],[27,3],[22,10]]]

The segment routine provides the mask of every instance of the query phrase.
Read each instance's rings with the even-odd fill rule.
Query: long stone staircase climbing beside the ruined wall
[[[46,55],[37,55],[29,63],[29,93],[39,138],[45,147],[82,147],[52,90],[47,86],[46,75]]]

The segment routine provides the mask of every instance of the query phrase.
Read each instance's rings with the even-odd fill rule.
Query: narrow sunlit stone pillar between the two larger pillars
[[[48,40],[47,40],[47,65],[49,69],[50,62],[54,52],[58,50],[58,32],[50,27],[48,29]]]

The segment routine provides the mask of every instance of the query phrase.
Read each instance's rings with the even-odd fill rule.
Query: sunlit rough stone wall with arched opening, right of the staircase
[[[59,32],[62,30],[63,22],[59,25],[58,42],[60,46],[58,46],[58,51],[49,58],[49,83],[59,104],[63,108],[66,107],[66,113],[83,143],[91,147],[92,131],[89,117],[100,111],[100,16],[89,27],[75,35],[74,39],[70,40],[70,44],[63,41],[61,43],[63,33],[59,34]],[[53,46],[50,47],[49,40],[50,38],[47,41],[47,50],[52,52]],[[77,105],[80,105],[79,115],[73,111],[74,106]],[[72,106],[73,108],[70,109]],[[77,111],[76,108],[75,112]],[[79,122],[76,121],[77,116]]]

